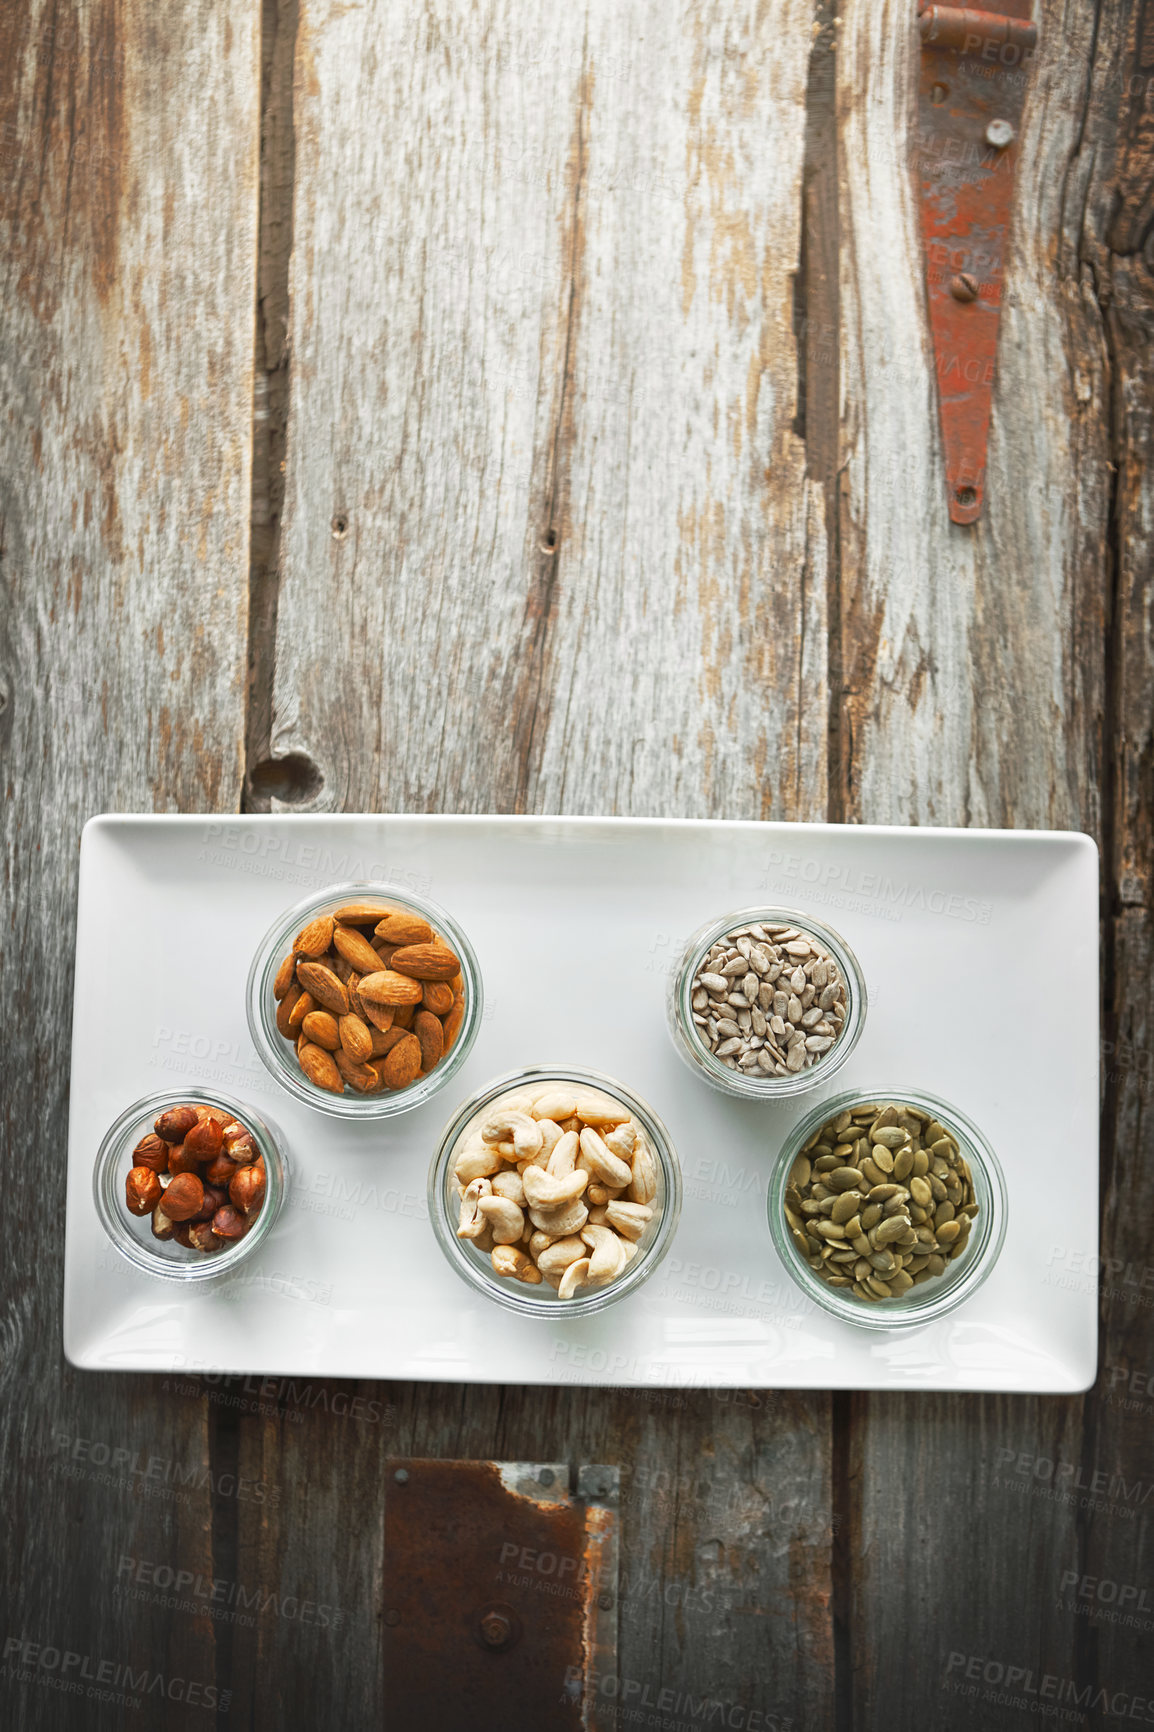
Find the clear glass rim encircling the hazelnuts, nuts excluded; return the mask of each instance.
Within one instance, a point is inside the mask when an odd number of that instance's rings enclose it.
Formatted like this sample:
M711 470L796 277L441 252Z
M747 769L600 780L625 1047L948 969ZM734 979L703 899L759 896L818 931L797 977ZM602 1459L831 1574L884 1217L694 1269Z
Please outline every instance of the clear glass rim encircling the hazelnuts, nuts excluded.
M222 1107L225 1112L230 1112L234 1119L244 1124L246 1129L251 1129L265 1160L265 1202L256 1218L256 1225L251 1226L250 1231L244 1233L244 1237L239 1238L229 1251L218 1251L211 1256L201 1254L199 1261L192 1259L184 1263L175 1257L161 1257L158 1252L149 1251L147 1242L135 1238L126 1225L126 1219L123 1219L120 1211L114 1207L111 1195L106 1195L106 1186L114 1195L113 1188L118 1178L114 1169L121 1155L130 1152L126 1143L133 1126L144 1122L146 1119L154 1121L165 1107L192 1103ZM126 1174L128 1169L120 1174L121 1181ZM288 1190L289 1160L277 1126L255 1107L248 1105L248 1102L236 1100L236 1096L225 1095L217 1088L156 1089L152 1095L142 1095L140 1100L125 1107L113 1124L109 1124L107 1131L100 1138L100 1145L92 1162L92 1200L95 1204L97 1219L109 1244L125 1259L125 1263L132 1264L132 1268L140 1270L144 1275L156 1275L161 1280L170 1282L206 1282L218 1280L222 1275L230 1275L237 1264L253 1256L253 1252L265 1242L281 1216ZM132 1219L146 1221L147 1216L132 1216Z

